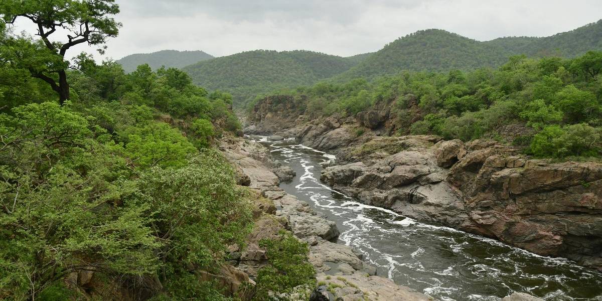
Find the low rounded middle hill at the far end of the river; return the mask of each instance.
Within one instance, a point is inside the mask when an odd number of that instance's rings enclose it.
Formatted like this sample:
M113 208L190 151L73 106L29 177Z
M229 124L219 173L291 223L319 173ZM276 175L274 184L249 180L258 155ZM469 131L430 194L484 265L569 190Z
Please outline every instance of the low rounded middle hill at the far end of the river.
M235 105L279 88L314 84L348 70L355 59L312 51L256 50L184 67L197 85L232 93Z

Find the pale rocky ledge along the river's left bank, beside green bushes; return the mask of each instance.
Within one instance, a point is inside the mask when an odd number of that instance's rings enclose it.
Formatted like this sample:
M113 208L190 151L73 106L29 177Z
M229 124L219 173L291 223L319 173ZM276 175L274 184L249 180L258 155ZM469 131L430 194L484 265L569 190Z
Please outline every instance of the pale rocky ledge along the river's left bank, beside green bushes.
M237 271L249 275L249 281L252 281L258 268L267 261L265 250L259 247L259 240L275 237L280 229L288 229L309 244L309 261L318 272L318 280L325 279L328 274L338 275L341 279L345 277L349 279L349 283L353 283L341 284L342 288L337 290L336 299L331 299L334 296L323 294L323 291L320 293L320 290L315 290L312 293L315 300L429 300L423 294L375 276L376 268L362 261L361 255L356 254L351 247L330 242L339 235L336 224L317 216L307 202L278 187L278 177L268 168L273 163L265 157L269 152L262 151L262 148L261 144L238 138L224 140L220 145L226 158L248 176L249 187L260 194L262 199L256 204L258 212L253 213L256 222L253 232L247 238L247 248L240 250L238 246L231 246L229 249L229 262L234 264ZM249 157L250 154L253 157ZM235 279L239 279L239 276L226 277L234 280L224 283L225 287L237 290ZM324 299L325 297L329 299Z

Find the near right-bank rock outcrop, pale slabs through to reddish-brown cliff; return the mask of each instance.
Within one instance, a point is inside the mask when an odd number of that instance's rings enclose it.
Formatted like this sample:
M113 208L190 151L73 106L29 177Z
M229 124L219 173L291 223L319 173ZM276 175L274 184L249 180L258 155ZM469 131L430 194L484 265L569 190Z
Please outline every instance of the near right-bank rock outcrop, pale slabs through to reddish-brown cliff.
M404 216L602 268L602 164L529 160L495 141L452 140L327 167L321 179Z

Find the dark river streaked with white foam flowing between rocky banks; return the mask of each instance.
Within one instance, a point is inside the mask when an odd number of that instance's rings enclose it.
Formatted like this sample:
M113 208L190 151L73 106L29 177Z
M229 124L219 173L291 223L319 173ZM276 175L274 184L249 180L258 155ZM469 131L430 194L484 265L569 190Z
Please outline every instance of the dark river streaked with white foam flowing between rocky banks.
M602 273L364 205L320 182L319 163L332 156L294 141L263 140L297 172L281 187L336 222L340 242L363 252L380 276L435 300L500 300L518 291L545 300L602 301Z

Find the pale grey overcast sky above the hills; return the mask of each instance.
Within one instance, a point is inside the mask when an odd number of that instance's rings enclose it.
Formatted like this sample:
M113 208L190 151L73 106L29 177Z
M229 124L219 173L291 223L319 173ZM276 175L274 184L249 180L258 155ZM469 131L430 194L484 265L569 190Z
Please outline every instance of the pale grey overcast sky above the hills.
M117 0L119 59L162 49L214 56L254 49L373 52L414 31L476 40L550 36L602 19L601 0Z

